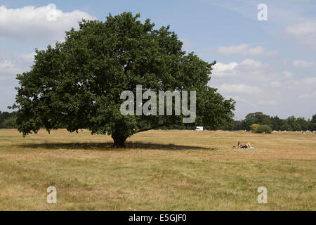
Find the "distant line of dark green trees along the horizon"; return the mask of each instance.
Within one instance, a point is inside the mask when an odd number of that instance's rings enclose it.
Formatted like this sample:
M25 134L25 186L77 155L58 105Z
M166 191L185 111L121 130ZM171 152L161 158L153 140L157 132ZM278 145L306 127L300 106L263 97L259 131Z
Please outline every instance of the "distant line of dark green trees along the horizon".
M17 113L8 113L0 111L0 129L16 128L16 117ZM315 131L316 130L316 114L312 116L312 120L305 120L304 117L288 117L287 119L280 119L279 117L271 117L261 112L249 113L246 115L244 120L231 122L225 124L223 127L216 127L216 129L225 130L251 130L251 125L260 124L267 125L272 130L277 131ZM203 126L203 124L197 124ZM196 129L196 124L176 124L165 127L159 127L157 129ZM204 126L204 129L214 129L211 127Z

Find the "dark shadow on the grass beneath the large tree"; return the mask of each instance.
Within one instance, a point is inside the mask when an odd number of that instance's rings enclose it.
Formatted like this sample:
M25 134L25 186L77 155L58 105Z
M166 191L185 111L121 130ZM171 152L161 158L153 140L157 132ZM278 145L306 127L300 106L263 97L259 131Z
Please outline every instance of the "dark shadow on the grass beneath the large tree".
M117 150L113 148L112 142L86 142L86 143L25 143L20 148L42 148L42 149L85 149L85 150ZM126 148L158 149L158 150L216 150L216 148L205 148L199 146L181 146L174 144L143 143L126 141Z

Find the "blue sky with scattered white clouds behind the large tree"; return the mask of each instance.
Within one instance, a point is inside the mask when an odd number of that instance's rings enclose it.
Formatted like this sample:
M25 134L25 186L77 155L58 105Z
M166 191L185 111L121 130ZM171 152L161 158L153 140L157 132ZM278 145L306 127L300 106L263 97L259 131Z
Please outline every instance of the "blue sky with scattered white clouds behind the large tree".
M55 21L46 18L48 4L57 7ZM258 4L267 5L267 21L257 19ZM216 60L209 85L237 101L236 119L316 113L315 0L0 1L0 110L14 103L15 75L29 70L35 48L62 40L81 18L124 11L171 25L185 51Z

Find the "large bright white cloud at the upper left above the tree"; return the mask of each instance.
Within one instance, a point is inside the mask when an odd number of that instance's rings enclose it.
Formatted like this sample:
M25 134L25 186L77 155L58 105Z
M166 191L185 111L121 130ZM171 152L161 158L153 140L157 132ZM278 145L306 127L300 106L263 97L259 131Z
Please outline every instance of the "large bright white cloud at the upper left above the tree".
M61 39L66 30L77 27L81 19L94 20L93 16L83 11L64 13L58 9L55 20L49 20L51 8L25 6L6 8L0 6L0 37L18 37L21 39L41 38Z

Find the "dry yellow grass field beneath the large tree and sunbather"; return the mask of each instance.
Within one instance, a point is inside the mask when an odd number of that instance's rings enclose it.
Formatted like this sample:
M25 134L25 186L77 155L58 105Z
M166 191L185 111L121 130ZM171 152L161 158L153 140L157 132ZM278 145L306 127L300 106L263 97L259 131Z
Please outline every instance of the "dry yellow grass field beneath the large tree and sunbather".
M126 145L89 131L0 130L0 210L316 210L316 134L146 131Z

